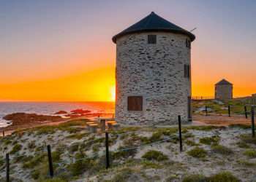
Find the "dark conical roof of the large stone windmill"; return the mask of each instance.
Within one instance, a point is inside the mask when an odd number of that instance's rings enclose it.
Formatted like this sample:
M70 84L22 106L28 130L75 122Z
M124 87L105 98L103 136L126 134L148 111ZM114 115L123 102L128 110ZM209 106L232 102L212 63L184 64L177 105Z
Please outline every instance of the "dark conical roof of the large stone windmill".
M148 31L165 31L165 32L172 32L172 33L181 33L185 34L190 37L191 41L195 40L195 35L186 31L185 29L170 23L169 21L165 20L159 15L151 12L150 15L144 17L138 23L131 25L129 28L121 31L116 36L113 36L112 40L116 43L116 39L121 36L127 35L129 33L138 33L138 32L148 32Z

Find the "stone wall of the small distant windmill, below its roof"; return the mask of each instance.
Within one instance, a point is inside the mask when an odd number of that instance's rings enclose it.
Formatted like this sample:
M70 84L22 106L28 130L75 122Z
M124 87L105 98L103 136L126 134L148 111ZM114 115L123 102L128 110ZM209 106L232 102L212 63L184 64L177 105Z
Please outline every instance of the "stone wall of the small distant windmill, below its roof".
M233 86L230 84L215 85L215 98L220 100L233 98Z

